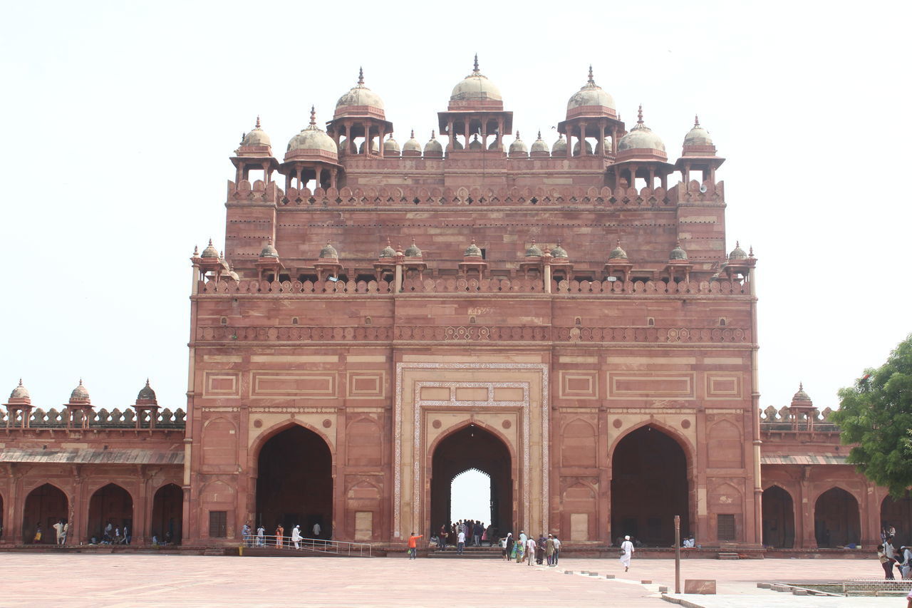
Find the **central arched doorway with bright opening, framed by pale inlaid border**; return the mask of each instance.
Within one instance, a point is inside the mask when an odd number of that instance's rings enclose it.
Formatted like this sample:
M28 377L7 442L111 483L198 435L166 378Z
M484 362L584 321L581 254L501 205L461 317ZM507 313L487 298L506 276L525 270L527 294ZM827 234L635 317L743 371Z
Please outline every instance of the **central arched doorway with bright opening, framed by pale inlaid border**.
M452 481L461 473L477 469L491 478L489 487L476 491L487 493L490 501L490 524L494 536L513 533L513 459L503 441L479 425L466 425L444 437L431 456L430 529L436 534L440 526L451 523ZM489 489L490 488L490 489ZM470 516L458 516L467 519ZM488 522L485 522L485 526Z

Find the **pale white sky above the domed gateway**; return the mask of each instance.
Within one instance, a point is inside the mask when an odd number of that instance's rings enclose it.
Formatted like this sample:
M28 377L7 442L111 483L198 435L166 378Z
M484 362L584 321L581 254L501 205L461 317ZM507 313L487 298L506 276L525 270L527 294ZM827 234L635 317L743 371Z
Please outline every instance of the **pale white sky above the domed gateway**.
M699 112L728 159L728 248L759 259L763 407L800 381L834 406L912 330L907 3L444 6L6 5L0 396L22 376L60 407L82 377L122 408L149 376L185 407L188 257L223 246L241 133L262 115L281 154L363 66L399 142L425 141L475 52L526 142L555 139L590 63L672 157Z

